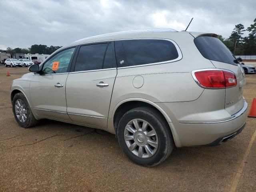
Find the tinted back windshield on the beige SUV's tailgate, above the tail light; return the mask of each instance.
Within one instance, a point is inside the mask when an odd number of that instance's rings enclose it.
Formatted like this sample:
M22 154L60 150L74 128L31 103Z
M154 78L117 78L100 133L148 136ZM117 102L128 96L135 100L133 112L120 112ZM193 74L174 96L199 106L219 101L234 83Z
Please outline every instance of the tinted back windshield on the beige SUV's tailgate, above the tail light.
M200 36L194 39L194 43L206 59L237 65L232 52L218 38Z

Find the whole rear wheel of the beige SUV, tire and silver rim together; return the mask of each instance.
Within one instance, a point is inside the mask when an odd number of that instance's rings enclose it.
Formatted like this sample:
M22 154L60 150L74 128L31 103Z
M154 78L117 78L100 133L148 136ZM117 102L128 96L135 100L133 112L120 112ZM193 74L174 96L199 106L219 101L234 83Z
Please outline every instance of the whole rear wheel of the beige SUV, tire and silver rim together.
M117 130L123 152L136 164L156 166L172 152L174 141L166 120L150 107L138 107L122 116Z

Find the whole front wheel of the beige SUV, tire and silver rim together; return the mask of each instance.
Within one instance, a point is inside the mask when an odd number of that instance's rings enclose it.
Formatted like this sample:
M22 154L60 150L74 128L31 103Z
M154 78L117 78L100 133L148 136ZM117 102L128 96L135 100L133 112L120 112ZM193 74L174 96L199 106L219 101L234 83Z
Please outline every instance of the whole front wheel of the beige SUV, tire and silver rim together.
M19 126L29 128L35 126L38 120L34 117L26 97L22 93L14 96L12 102L12 112Z

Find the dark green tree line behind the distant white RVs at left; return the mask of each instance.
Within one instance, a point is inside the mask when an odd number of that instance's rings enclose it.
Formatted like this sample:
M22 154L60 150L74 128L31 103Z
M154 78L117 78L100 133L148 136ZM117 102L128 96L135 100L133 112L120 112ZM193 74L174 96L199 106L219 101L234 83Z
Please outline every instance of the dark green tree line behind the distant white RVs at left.
M30 48L15 48L12 49L10 47L6 48L6 50L0 50L0 52L5 53L24 53L24 54L52 54L57 49L61 48L60 46L46 46L46 45L32 45Z

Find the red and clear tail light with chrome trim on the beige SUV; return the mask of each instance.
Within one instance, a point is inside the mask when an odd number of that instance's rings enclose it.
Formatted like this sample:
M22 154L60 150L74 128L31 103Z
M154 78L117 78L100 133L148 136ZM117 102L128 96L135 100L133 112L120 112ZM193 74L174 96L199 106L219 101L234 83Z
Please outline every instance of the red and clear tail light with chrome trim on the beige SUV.
M221 69L204 69L192 71L197 84L203 88L222 89L236 86L236 76L233 72Z

